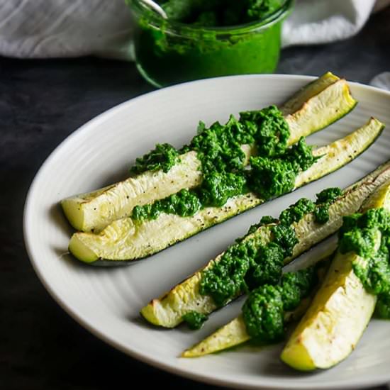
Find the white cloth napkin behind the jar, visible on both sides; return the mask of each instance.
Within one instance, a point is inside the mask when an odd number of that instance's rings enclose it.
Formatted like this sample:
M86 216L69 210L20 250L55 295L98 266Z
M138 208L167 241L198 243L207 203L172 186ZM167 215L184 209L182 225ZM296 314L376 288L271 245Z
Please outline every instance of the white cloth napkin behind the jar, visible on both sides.
M364 26L374 6L387 4L390 0L296 0L284 23L283 44L348 38ZM130 12L124 0L0 0L1 55L92 54L131 60L130 42Z

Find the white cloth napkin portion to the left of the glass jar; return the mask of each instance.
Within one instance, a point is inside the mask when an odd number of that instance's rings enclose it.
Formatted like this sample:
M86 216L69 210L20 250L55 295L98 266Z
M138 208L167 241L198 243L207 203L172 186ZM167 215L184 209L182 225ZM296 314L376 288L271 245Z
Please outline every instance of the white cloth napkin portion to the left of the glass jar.
M129 58L124 0L0 0L0 54Z

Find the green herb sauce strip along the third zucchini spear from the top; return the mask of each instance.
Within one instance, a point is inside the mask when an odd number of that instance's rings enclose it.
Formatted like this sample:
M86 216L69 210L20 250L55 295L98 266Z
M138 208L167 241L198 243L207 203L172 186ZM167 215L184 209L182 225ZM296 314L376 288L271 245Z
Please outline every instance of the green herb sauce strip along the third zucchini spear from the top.
M317 195L316 203L325 200L329 207L330 195L325 198L325 194L334 194L335 201L338 197L335 194L342 194L342 191L327 189ZM247 240L237 240L213 267L202 273L200 293L210 295L217 306L223 306L243 292L252 291L264 284L277 284L282 276L284 259L292 255L294 246L298 243L294 223L322 205L303 198L282 211L279 220L263 217L259 224L251 226L248 234L255 233L261 225L269 223L272 240L267 245L262 245L256 234Z

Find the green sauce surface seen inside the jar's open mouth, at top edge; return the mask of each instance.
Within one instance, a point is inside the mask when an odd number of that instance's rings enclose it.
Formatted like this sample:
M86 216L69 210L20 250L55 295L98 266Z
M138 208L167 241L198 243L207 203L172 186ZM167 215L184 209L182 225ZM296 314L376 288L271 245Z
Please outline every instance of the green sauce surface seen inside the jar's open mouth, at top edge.
M282 0L158 0L167 16L195 26L234 26L258 21L279 9Z

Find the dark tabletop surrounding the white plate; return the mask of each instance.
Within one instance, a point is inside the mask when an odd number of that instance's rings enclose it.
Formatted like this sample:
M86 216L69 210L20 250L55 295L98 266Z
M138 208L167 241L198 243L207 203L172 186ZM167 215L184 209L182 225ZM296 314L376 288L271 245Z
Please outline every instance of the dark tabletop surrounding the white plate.
M368 83L390 70L390 9L331 45L288 48L277 72L331 70ZM23 204L50 152L97 114L152 91L133 63L96 58L0 59L0 388L108 389L158 381L217 389L148 367L72 320L45 291L23 244Z

